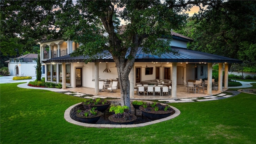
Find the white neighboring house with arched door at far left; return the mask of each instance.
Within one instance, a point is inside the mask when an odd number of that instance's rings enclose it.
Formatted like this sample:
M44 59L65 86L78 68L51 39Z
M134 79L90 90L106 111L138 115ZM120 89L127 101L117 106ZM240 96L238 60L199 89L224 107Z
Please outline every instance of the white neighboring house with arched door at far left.
M36 60L38 54L25 54L17 58L10 58L8 69L11 76L36 76Z

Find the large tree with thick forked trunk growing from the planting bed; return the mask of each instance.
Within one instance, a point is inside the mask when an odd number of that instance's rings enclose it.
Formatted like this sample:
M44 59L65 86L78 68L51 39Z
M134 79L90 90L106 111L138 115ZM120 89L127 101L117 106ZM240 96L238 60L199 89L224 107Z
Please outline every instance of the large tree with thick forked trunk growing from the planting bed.
M184 24L187 15L181 14L182 6L191 3L194 2L78 0L74 6L70 1L57 16L57 26L64 31L64 38L82 43L73 56L95 56L103 50L112 54L120 83L121 104L130 107L128 75L138 47L143 46L144 52L152 55L173 52L169 40L158 38L170 38L171 30ZM120 27L116 18L126 21L126 26ZM104 33L108 36L102 35Z

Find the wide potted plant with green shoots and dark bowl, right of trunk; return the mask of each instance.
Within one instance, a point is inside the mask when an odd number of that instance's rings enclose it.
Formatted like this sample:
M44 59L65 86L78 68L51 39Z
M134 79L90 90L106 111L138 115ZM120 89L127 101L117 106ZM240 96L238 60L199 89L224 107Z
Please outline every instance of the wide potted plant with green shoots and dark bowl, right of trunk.
M150 120L158 120L165 118L175 113L175 111L168 105L163 105L154 102L153 104L143 104L139 107L143 116Z

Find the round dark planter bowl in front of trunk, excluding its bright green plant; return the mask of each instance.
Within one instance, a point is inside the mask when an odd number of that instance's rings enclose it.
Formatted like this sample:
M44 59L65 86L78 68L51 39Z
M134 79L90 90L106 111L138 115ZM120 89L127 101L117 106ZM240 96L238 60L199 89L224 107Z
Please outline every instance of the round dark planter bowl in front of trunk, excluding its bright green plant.
M124 117L129 118L126 119ZM136 119L137 117L135 115L126 112L124 112L124 114L112 114L108 117L108 120L111 121L111 124L133 124Z

